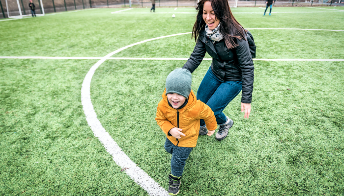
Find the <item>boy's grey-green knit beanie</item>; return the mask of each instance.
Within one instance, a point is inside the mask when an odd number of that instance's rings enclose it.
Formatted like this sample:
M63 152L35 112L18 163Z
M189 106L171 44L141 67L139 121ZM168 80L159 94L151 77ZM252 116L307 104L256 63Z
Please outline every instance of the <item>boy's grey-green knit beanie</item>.
M189 98L191 92L191 73L187 69L173 70L166 78L166 95L177 93Z

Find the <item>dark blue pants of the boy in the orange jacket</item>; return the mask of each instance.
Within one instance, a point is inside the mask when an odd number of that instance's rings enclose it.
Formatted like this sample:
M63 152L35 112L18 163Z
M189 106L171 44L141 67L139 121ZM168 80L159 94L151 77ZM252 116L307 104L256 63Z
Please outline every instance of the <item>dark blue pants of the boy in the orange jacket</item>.
M171 173L179 177L183 174L185 161L189 157L192 147L177 147L166 138L165 149L172 154L171 158Z

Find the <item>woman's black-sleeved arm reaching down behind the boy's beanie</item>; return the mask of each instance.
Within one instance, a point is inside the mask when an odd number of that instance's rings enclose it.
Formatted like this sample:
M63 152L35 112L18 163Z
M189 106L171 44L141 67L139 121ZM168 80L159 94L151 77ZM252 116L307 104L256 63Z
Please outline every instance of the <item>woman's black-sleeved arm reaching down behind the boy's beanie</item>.
M198 39L194 51L191 53L190 58L186 61L183 69L189 70L190 73L193 73L198 66L201 64L206 53L205 44Z

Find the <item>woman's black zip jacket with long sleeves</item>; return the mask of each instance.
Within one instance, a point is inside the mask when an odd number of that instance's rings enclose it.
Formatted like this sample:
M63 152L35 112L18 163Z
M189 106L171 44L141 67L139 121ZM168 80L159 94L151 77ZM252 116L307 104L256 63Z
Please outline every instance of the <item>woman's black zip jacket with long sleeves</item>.
M246 34L245 39L247 39ZM241 102L251 103L255 68L249 44L244 39L234 39L234 41L238 46L234 49L227 49L224 40L213 44L206 36L205 30L201 30L195 49L183 68L193 73L201 64L205 53L208 52L213 58L211 71L222 81L242 80Z

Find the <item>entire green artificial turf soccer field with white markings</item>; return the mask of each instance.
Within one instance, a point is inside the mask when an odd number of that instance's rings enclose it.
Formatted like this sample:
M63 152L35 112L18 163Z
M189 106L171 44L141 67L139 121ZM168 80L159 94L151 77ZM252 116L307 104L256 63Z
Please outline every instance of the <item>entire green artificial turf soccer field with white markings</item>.
M257 45L250 119L239 94L229 136L199 137L180 196L344 194L344 7L264 9L231 9ZM172 155L154 118L195 20L159 7L0 20L0 195L161 193L146 176L167 190Z

